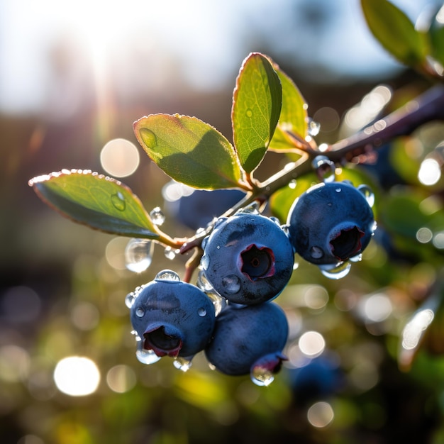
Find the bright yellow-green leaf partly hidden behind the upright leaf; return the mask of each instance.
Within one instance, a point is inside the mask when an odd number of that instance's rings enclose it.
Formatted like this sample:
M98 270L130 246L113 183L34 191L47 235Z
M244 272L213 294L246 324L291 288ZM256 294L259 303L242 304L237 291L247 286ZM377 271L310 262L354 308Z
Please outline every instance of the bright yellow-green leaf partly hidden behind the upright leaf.
M273 67L282 84L282 111L269 148L275 151L294 149L294 143L287 131L301 139L306 138L307 104L293 80L278 65L274 64Z

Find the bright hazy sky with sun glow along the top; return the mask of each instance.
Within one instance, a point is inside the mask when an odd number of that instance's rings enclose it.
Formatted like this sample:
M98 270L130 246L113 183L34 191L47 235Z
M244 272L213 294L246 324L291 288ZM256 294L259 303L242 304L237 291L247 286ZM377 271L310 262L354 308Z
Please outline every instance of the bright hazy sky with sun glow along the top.
M424 2L396 0L413 16ZM298 34L304 4L333 18L328 38ZM0 112L41 111L51 96L75 102L84 79L101 84L106 73L129 97L167 88L177 72L193 87L227 87L258 41L341 75L399 67L370 37L359 0L1 0Z

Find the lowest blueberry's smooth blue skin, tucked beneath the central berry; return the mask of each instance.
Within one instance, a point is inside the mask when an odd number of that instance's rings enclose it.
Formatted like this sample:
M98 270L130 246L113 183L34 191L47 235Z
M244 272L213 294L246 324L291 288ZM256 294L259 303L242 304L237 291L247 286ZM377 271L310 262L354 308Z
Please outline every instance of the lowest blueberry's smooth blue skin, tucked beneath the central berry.
M287 336L287 318L274 302L228 305L216 318L205 355L217 370L231 375L248 374L262 358L274 355L274 365L269 370L277 372L284 359L282 349Z

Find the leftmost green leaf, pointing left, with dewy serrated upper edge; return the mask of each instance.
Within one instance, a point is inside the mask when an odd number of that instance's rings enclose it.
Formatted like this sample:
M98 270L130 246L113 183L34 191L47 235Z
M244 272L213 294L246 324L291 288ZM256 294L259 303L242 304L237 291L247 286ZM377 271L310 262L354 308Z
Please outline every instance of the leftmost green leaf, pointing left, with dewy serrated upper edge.
M138 196L116 179L89 170L62 170L29 181L62 216L106 233L160 238Z

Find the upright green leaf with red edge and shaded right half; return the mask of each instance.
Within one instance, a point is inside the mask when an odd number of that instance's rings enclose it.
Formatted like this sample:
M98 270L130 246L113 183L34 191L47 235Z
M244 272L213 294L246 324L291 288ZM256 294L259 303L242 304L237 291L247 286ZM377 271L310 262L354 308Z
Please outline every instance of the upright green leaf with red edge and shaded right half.
M250 173L272 140L282 107L282 87L270 60L252 52L243 62L233 92L233 140L240 164Z

